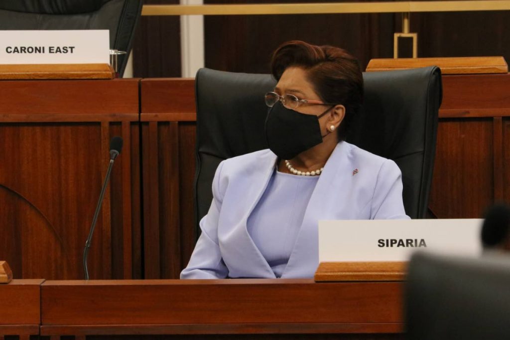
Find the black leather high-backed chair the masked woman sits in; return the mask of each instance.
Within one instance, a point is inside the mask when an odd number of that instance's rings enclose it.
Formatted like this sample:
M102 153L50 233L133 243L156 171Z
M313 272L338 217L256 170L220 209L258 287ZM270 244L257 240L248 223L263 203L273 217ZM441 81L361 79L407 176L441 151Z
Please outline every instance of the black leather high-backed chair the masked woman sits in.
M347 141L394 160L402 171L405 212L424 218L436 152L442 99L437 67L364 73L365 100ZM269 74L200 69L196 75L197 167L195 218L207 214L218 164L267 148L264 94Z

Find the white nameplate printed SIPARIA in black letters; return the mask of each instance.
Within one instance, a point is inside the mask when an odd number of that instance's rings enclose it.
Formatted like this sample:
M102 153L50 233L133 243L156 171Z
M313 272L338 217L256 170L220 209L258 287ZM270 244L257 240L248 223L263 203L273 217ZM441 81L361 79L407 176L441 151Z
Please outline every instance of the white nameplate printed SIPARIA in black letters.
M319 261L407 261L416 250L479 255L482 219L319 221Z

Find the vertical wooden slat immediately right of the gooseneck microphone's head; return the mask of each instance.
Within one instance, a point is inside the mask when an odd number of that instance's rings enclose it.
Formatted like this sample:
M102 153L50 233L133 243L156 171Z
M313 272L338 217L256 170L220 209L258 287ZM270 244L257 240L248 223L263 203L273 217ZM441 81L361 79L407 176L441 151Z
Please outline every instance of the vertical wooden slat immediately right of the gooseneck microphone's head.
M122 122L122 138L124 152L122 153L122 239L123 239L123 278L133 277L132 251L132 220L131 220L131 122Z

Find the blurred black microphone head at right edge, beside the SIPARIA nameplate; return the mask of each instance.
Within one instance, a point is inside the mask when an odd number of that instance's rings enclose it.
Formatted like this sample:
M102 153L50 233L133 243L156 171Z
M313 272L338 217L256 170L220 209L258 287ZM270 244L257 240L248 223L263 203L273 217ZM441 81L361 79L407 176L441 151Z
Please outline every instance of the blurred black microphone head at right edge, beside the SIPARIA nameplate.
M510 207L506 204L495 204L485 215L481 228L481 242L486 248L504 246L510 229Z

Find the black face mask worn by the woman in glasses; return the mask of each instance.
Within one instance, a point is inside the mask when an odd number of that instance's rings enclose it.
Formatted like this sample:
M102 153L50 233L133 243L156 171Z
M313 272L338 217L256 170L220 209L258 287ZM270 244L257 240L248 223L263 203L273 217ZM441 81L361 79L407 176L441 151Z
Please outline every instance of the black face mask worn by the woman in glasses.
M291 160L299 153L322 143L319 116L287 109L277 102L269 108L266 117L266 141L271 151L283 160Z

